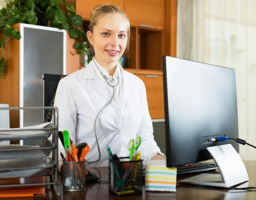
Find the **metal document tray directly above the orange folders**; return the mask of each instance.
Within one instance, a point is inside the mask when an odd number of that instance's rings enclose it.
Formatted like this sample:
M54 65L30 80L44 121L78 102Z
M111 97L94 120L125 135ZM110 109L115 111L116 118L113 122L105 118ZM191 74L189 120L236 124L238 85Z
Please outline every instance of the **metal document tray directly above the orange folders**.
M51 158L0 161L0 178L47 176L55 163Z

